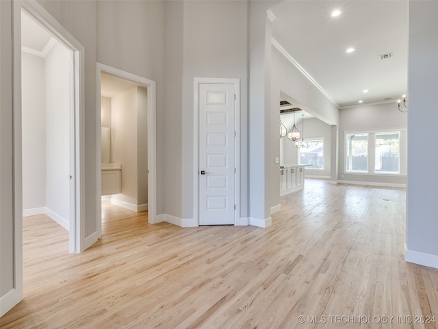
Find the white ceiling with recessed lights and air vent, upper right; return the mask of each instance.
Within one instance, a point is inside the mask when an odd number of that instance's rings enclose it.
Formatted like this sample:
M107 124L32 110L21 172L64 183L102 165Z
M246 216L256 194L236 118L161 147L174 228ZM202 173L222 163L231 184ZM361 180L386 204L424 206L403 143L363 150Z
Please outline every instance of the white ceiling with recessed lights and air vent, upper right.
M407 1L283 1L271 11L272 37L339 108L407 94Z

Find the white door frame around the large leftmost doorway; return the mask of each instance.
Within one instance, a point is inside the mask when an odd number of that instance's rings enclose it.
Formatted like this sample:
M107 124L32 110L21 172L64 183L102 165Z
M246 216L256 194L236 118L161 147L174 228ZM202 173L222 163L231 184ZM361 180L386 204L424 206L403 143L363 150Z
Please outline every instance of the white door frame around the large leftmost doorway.
M70 254L85 249L84 185L83 177L84 144L84 47L60 23L58 23L42 5L36 1L14 1L14 219L16 228L23 227L23 181L22 181L22 130L21 130L21 11L26 12L49 34L70 51L70 218L69 243ZM19 54L19 55L18 55ZM20 243L23 239L20 238ZM18 243L18 239L16 239ZM21 251L22 253L22 251ZM21 256L22 257L22 256Z

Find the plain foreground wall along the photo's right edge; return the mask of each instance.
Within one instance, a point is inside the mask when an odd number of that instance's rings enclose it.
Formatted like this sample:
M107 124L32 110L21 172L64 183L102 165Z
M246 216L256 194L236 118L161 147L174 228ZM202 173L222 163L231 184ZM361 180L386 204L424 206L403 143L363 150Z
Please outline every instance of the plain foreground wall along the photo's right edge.
M406 259L438 268L438 2L409 1L409 166Z

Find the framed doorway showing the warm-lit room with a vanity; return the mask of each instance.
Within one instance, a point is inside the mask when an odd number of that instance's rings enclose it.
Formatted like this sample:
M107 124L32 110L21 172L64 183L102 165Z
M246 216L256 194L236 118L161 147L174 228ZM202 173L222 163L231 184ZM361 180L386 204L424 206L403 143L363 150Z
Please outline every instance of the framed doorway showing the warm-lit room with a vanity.
M97 75L96 208L110 203L148 210L148 222L155 223L155 82L104 64ZM101 237L102 212L98 218Z

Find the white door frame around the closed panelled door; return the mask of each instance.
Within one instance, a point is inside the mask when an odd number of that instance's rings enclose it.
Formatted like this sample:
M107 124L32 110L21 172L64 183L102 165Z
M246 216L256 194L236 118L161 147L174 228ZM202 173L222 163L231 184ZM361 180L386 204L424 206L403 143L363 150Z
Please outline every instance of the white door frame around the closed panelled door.
M194 111L193 111L193 216L199 226L199 85L200 84L233 84L234 102L234 225L242 225L240 221L240 79L220 77L194 77ZM244 223L244 225L248 225Z

